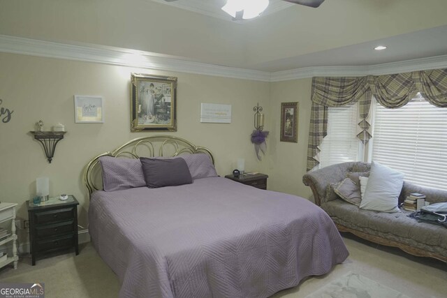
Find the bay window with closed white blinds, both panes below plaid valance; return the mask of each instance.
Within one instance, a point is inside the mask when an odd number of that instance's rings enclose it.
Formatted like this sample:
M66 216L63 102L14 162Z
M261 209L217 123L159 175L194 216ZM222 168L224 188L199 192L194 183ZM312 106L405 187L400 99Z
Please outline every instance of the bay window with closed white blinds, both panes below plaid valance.
M431 105L420 94L397 109L374 101L369 146L356 137L357 104L328 109L320 167L374 160L403 172L406 181L447 190L447 108Z

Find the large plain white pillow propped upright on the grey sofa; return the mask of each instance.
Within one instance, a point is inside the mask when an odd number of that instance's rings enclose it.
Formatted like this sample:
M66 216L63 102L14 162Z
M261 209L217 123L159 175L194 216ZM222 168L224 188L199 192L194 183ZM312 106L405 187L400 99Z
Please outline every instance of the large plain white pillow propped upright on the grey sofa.
M360 208L388 213L399 212L397 204L403 184L404 174L373 161Z

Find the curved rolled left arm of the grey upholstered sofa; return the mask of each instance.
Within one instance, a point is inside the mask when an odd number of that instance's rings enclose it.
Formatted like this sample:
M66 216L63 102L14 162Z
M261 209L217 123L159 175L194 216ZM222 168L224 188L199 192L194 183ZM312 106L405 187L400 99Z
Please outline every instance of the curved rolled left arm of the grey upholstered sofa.
M349 162L330 165L319 170L307 172L302 177L305 186L309 186L314 194L315 204L320 206L325 202L326 188L329 184L337 183L346 178L348 172L359 172L367 167L367 163Z

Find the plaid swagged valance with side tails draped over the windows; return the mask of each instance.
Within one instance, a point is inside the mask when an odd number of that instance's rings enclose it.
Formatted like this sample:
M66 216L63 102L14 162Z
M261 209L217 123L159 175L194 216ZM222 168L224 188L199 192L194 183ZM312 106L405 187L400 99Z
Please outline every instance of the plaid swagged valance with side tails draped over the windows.
M359 102L357 137L366 144L372 137L367 121L372 96L384 107L397 108L406 105L418 92L432 105L447 107L447 68L366 77L314 77L307 170L319 164L318 147L328 133L328 107Z

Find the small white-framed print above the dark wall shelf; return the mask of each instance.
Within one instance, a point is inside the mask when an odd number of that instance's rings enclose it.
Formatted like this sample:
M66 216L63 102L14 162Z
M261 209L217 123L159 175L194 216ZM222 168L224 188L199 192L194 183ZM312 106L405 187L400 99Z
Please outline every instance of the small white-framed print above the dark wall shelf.
M104 123L103 97L75 95L75 123Z

